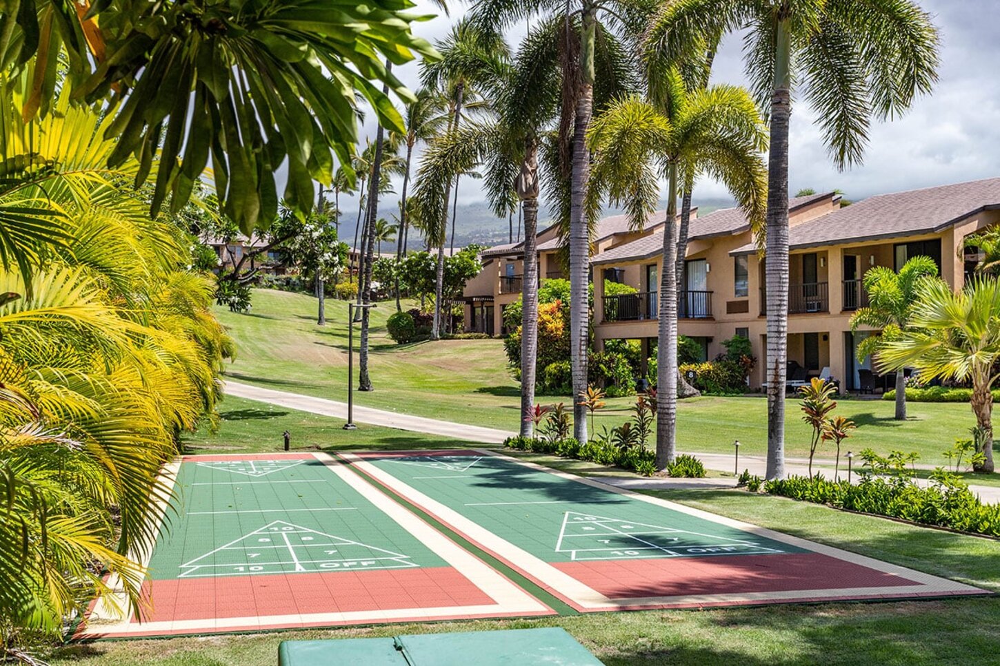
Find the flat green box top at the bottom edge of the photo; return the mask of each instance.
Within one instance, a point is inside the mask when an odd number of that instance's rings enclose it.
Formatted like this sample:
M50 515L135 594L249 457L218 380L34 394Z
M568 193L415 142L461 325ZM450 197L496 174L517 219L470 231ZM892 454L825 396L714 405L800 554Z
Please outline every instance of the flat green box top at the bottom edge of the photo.
M562 629L282 641L278 666L602 666Z

